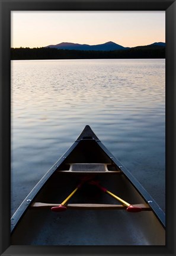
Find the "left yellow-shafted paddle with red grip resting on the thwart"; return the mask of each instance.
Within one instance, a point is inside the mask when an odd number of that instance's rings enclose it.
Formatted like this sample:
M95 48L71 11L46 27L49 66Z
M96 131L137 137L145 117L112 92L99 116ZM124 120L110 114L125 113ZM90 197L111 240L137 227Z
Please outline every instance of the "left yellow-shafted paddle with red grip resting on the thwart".
M71 199L73 194L75 194L76 191L79 188L81 188L82 184L84 184L86 181L90 180L91 178L92 178L92 176L91 177L82 177L81 183L79 183L79 185L75 188L75 190L73 190L72 193L69 194L69 196L66 197L66 199L61 204L59 204L59 206L54 206L54 207L51 208L52 212L63 212L63 211L65 211L67 209L65 204L68 202L68 200Z

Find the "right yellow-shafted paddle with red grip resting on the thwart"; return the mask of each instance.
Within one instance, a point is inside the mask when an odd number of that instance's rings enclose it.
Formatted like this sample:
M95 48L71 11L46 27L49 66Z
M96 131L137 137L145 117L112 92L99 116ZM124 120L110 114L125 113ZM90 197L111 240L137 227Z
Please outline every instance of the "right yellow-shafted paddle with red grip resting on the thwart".
M123 199L121 199L120 197L116 196L115 194L111 193L110 191L107 190L107 188L102 187L98 181L90 181L89 182L92 185L96 185L98 188L100 188L104 193L110 194L110 196L114 197L115 199L117 199L118 201L120 201L122 204L124 204L124 206L127 206L127 212L141 212L142 208L140 207L136 207L133 206L132 204L127 203L126 201L124 201Z

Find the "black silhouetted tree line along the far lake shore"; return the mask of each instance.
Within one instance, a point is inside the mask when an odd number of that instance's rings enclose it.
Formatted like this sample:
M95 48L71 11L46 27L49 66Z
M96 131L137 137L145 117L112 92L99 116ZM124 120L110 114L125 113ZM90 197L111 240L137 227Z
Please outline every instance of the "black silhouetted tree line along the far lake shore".
M56 48L11 48L11 60L32 59L164 59L165 47L138 46L127 50L85 51Z

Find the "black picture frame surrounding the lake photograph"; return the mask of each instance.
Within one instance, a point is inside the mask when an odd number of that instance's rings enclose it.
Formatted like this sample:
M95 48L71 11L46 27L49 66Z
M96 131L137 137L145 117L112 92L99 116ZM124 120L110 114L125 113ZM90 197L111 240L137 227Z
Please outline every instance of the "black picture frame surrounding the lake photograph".
M0 0L1 5L1 255L175 255L176 2L171 0ZM166 12L166 187L165 246L11 246L11 11Z

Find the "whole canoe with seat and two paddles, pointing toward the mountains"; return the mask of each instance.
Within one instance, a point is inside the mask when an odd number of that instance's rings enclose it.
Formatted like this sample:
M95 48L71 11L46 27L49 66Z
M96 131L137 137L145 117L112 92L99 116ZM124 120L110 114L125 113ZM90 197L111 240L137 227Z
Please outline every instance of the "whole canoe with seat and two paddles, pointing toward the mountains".
M11 245L165 245L165 213L85 126L11 217Z

